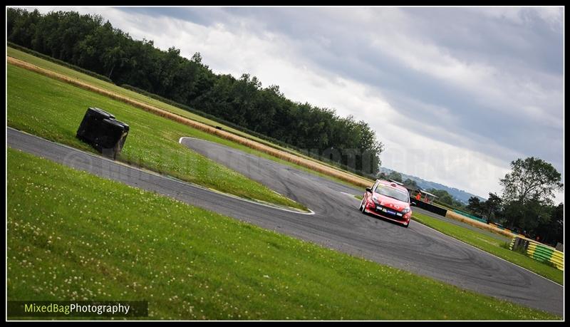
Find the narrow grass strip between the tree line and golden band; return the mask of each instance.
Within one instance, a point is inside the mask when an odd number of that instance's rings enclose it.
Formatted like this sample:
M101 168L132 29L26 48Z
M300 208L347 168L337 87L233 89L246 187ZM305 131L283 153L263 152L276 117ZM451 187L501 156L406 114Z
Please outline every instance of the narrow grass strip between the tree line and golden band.
M234 129L234 128L230 128L230 127L227 126L227 125L224 125L224 124L221 124L221 123L217 123L217 122L215 122L214 120L210 120L210 119L208 119L208 118L204 118L204 117L202 117L202 116L200 116L200 115L197 115L197 114L195 114L195 113L191 113L191 112L189 112L189 111L187 111L187 110L183 110L182 108L177 108L176 106L170 105L170 104L168 104L168 103L163 103L163 102L161 102L160 100L156 100L156 99L154 99L154 98L150 98L150 97L148 97L148 96L146 96L146 95L142 95L142 94L137 93L137 92L134 92L134 91L132 91L132 90L128 90L128 89L126 89L126 88L121 88L120 86L115 85L115 84L113 84L113 83L108 83L108 82L102 81L102 80L100 80L100 79L98 79L98 78L95 78L95 77L93 77L93 76L88 76L87 74L81 73L80 71L75 71L75 70L73 70L73 69L71 69L71 68L68 68L68 67L65 67L65 66L61 66L61 65L59 65L58 63L53 63L53 62L51 62L51 61L46 61L46 60L44 60L44 59L42 59L42 58L38 58L38 57L33 56L33 55L29 54L29 53L25 53L25 52L23 52L23 51L19 51L19 50L16 50L16 49L14 49L14 48L10 48L10 47L7 48L7 53L8 53L8 56L11 56L11 57L13 57L13 58L20 59L20 60L22 60L22 61L26 61L26 62L28 62L28 63L32 63L33 65L36 65L36 66L41 67L41 68L44 68L44 69L48 69L49 71L53 71L53 72L56 72L56 73L61 73L61 74L66 75L66 76L70 76L70 77L72 77L72 78L76 78L76 79L79 80L79 81L83 81L83 82L89 83L89 84L91 84L91 85L95 85L95 86L97 86L98 88L102 88L102 89L104 89L104 90L109 90L109 91L111 91L111 92L113 92L113 93L117 93L117 94L120 94L120 95L124 95L125 97L138 100L138 101L140 101L140 102L142 102L142 103L147 103L148 105L154 105L154 106L157 107L157 108L161 108L161 109L163 109L163 110L167 110L167 111L169 111L170 113L175 113L175 114L180 115L180 116L182 116L182 117L189 118L189 119L191 119L191 120L195 120L195 121L197 121L197 122L199 122L199 123L204 123L204 124L207 124L207 125L210 125L210 126L220 126L220 127L224 128L224 130L226 130L226 131L228 131L228 132L230 132L230 133L234 133L235 135L239 135L239 136L242 136L242 137L247 137L249 140L254 140L254 141L259 142L259 143L261 143L261 144L263 144L263 145L268 145L268 146L270 146L270 147L274 147L274 148L276 148L276 149L278 149L278 150L282 150L282 151L284 151L284 152L291 153L291 154L293 154L293 155L299 156L299 157L304 158L304 159L306 159L306 160L311 160L311 161L313 161L313 162L318 162L318 163L321 164L321 165L326 165L326 166L328 166L328 167L333 168L334 170L339 170L339 171L341 171L341 172L345 172L345 173L348 174L348 175L353 175L353 176L358 177L358 178L363 178L363 177L361 177L361 176L358 176L358 175L356 175L356 174L353 174L352 172L348 172L348 171L346 171L346 170L343 170L343 169L341 169L340 167L337 167L336 165L331 165L331 164L329 164L329 163L327 163L327 162L318 161L318 160L316 160L316 159L314 159L314 158L312 158L312 157L309 157L309 156L304 155L304 154L302 154L302 153L300 153L300 152L297 152L296 150L292 150L292 149L289 149L289 148L287 148L287 147L281 147L280 145L275 145L275 144L273 144L273 143L271 143L271 142L268 142L268 141L266 141L266 140L263 140L263 139L261 139L261 138L259 138L259 137L255 137L255 136L253 136L253 135L249 135L249 134L247 134L247 133L244 133L244 132L242 132L242 131L240 131L240 130L236 130L236 129ZM257 151L257 152L259 152L259 151ZM263 152L259 152L259 153L263 153ZM269 157L270 157L271 159L276 159L276 158L273 157L273 156L269 156ZM285 160L282 160L282 161L288 162L288 161L285 161ZM289 163L289 162L288 162L288 163ZM306 168L304 168L304 170L310 171L310 172L314 172L314 170L308 170L308 169L306 169ZM321 176L329 177L328 175L323 175L323 174L318 173L318 172L316 172L316 173L317 173L318 175L321 175ZM333 178L333 177L329 177L329 178ZM337 180L337 179L335 179L335 180ZM337 181L341 181L341 180L337 180ZM344 181L342 181L342 182L343 182L343 184L351 185L351 184L349 184L348 182L344 182Z

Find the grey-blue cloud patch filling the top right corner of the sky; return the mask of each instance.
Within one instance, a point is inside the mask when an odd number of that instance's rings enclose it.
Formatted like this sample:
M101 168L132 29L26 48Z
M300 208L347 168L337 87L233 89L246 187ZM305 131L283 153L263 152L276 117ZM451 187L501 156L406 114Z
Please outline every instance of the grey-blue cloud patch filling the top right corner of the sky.
M559 74L562 29L551 28L533 9L520 11L524 24L482 16L472 9L403 9L414 30L467 61L509 65L514 60Z

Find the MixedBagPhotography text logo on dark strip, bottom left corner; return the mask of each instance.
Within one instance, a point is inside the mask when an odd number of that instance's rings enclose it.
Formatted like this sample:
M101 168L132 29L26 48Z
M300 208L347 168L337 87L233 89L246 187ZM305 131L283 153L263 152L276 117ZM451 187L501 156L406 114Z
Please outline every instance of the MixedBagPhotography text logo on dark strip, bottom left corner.
M9 317L145 317L147 301L8 301Z

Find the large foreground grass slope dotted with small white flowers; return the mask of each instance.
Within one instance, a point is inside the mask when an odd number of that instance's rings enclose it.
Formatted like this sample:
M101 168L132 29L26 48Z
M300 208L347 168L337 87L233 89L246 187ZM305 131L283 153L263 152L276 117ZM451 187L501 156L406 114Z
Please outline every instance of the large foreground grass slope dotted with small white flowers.
M7 155L9 300L145 299L150 319L561 319Z

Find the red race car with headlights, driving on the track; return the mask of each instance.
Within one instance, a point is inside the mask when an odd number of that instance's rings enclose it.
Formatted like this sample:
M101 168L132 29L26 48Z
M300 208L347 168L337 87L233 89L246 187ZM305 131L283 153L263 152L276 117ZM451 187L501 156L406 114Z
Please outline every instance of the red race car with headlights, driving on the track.
M360 209L365 214L389 219L403 224L404 227L410 225L412 217L408 190L386 180L376 180L373 187L366 187Z

